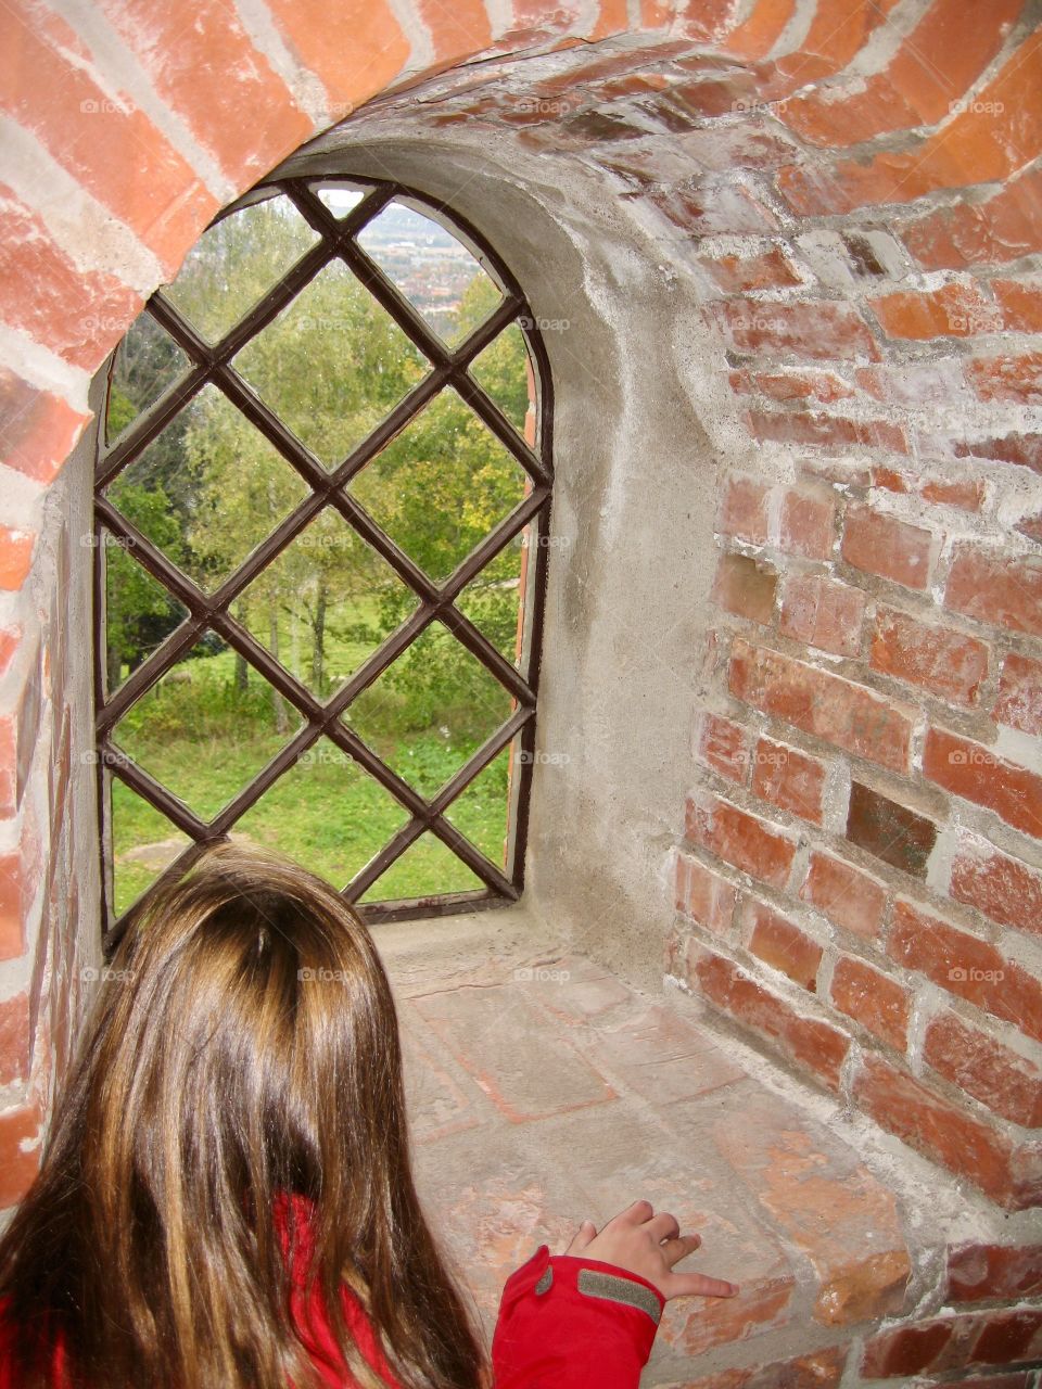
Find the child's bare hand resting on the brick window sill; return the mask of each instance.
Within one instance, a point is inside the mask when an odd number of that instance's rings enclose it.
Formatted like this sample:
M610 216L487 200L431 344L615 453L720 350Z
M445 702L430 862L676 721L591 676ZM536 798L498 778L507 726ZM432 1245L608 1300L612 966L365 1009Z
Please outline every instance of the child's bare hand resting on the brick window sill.
M686 1258L702 1243L699 1235L681 1235L672 1215L654 1214L650 1201L634 1201L614 1215L597 1233L592 1220L585 1220L565 1254L599 1258L654 1283L668 1301L671 1297L734 1297L736 1283L704 1274L674 1274L672 1265Z

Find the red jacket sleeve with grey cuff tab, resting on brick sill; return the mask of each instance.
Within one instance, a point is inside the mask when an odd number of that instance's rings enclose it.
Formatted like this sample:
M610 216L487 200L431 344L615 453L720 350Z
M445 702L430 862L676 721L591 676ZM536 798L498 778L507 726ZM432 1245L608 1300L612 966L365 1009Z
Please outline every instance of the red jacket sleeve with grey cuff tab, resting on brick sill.
M638 1389L664 1306L639 1274L540 1245L503 1289L495 1389Z

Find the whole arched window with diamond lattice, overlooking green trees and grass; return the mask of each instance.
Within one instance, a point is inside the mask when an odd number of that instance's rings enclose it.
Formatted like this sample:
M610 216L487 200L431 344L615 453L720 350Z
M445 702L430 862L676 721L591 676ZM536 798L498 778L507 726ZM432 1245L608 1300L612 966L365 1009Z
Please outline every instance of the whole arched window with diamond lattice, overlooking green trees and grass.
M210 226L108 369L110 942L226 836L370 921L517 900L550 483L538 329L458 217L290 179Z

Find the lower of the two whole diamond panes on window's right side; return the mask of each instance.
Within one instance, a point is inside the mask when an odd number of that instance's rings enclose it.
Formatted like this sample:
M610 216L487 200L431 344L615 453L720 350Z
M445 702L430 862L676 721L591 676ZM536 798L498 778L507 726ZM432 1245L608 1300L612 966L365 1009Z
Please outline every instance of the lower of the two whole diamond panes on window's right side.
M507 718L511 696L446 626L432 622L345 721L428 800Z

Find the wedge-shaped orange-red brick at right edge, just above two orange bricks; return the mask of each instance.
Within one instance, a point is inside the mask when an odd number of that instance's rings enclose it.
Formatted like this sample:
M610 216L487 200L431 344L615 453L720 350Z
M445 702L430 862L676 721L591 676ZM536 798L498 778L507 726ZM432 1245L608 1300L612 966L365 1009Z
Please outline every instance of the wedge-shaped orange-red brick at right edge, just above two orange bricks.
M1042 169L1035 169L985 201L929 213L904 229L903 240L924 269L1007 264L1042 250L1039 203Z

